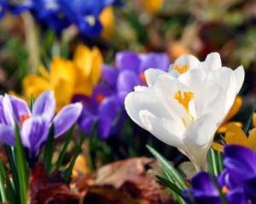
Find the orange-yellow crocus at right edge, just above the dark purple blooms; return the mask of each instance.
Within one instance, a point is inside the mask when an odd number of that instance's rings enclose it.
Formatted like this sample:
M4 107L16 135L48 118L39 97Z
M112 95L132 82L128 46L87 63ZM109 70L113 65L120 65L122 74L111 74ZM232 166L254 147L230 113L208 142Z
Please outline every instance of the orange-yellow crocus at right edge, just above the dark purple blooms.
M247 137L241 127L237 126L236 123L229 123L227 125L224 140L226 144L238 144L245 146L250 150L256 150L256 126L249 131L249 135ZM212 148L214 150L223 151L224 145L213 142Z

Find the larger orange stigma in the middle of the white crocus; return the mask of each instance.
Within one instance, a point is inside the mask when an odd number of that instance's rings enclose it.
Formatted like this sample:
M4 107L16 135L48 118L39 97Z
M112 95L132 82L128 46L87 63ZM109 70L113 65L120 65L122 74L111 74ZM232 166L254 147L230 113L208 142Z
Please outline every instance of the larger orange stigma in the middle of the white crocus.
M193 122L194 117L190 114L189 111L189 102L194 99L194 94L192 92L186 92L186 91L181 91L178 90L177 93L174 95L174 99L177 99L177 102L183 106L185 111L187 112L189 116L189 121L186 121L183 118L183 124L185 127L188 127L188 122Z

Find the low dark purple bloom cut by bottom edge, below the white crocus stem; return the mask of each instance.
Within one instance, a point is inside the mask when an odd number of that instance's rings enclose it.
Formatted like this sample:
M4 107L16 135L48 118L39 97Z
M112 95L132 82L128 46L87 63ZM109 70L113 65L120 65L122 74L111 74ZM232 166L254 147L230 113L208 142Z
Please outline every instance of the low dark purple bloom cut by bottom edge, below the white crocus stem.
M216 184L222 190L226 200L232 204L247 204L246 196L242 190L228 190L226 186L222 186L218 181L218 178L211 176L206 172L197 173L195 177L191 179L191 188L183 191L183 197L188 203L197 204L222 204L218 188L213 183L215 179ZM195 201L191 199L191 196Z

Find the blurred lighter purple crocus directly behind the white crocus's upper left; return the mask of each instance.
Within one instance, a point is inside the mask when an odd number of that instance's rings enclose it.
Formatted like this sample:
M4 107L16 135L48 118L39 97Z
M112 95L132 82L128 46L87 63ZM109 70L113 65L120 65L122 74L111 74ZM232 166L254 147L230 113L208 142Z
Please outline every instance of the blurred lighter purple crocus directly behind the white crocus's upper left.
M115 65L119 70L117 91L124 101L125 96L137 85L145 85L144 71L148 68L157 68L167 71L169 58L166 54L137 54L132 51L119 52L116 55Z

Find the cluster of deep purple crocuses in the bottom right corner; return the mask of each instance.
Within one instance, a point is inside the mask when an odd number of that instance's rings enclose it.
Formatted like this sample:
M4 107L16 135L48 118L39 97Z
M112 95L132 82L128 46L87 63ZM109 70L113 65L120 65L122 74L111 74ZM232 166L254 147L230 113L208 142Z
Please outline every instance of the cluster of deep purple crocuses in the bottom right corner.
M189 203L256 203L256 152L240 145L224 148L224 171L218 177L201 172L183 191ZM221 199L223 195L226 202Z

